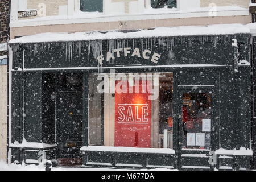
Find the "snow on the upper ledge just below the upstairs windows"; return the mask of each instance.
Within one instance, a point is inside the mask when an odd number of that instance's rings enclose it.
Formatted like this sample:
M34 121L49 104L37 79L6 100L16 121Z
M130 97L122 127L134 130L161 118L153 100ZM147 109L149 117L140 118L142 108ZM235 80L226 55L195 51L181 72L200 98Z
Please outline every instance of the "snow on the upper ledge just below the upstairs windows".
M152 20L152 19L177 19L177 18L197 18L210 17L209 12L212 9L208 7L198 9L147 9L144 13L138 14L103 14L77 12L73 16L48 16L42 18L16 20L10 23L10 27L43 26L53 24L75 24L75 23L99 23L99 22L118 22L134 20ZM248 16L249 9L237 6L217 7L216 16Z

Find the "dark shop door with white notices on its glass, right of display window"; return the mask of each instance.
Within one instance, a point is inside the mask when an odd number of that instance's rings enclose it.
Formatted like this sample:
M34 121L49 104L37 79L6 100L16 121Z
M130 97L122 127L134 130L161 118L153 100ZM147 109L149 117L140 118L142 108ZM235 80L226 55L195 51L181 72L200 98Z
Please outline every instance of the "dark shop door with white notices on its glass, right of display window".
M179 89L179 167L210 167L207 156L218 145L214 88Z

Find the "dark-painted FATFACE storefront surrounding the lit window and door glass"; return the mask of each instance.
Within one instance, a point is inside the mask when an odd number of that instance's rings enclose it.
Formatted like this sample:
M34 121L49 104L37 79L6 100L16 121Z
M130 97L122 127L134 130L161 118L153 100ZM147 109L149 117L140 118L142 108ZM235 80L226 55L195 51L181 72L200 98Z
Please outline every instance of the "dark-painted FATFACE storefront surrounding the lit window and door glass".
M238 46L232 44L233 39L237 40ZM65 159L72 158L73 164L82 164L82 167L250 169L249 34L16 43L9 46L12 49L9 76L9 154L12 163L39 164L46 159L60 164L58 159L65 163ZM125 56L126 47L130 49L126 49ZM139 53L133 52L136 48ZM108 61L107 52L113 49L119 49L120 55L113 54L115 58ZM144 50L150 51L143 55ZM154 57L154 53L160 56ZM102 119L106 114L105 101L103 96L96 96L90 90L90 84L93 84L90 76L108 75L113 69L115 74L171 73L172 146L167 147L170 150L161 150L163 146L158 142L159 150L155 152L154 147L148 151L134 149L133 152L130 148L125 151L104 146L108 131ZM69 76L80 78L75 81L75 86L63 84L63 79ZM95 129L100 132L100 142L95 145L102 147L97 150L87 147L93 146L90 144L93 138L90 131L94 131L90 127L93 112L89 103L93 97L101 100L97 107L101 125ZM210 121L210 129L201 132L210 140L207 147L206 140L204 148L188 143L187 137L195 138L197 131L189 133L189 127L186 127L184 134L185 97L205 97L205 103L210 102L210 105L206 104L208 107L205 106L210 109L210 117L208 115L208 120L204 120ZM61 105L69 101L72 106ZM76 107L78 114L66 109L69 107ZM69 121L65 118L71 122L65 122ZM164 135L160 130L159 136ZM68 135L72 131L75 131L73 138Z

